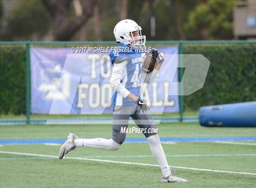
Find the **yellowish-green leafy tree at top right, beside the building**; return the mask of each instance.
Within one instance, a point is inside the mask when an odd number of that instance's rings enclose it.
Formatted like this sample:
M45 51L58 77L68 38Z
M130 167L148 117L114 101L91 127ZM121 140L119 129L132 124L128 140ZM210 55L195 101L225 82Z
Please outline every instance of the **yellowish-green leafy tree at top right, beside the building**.
M188 39L232 39L234 0L208 0L188 15Z

